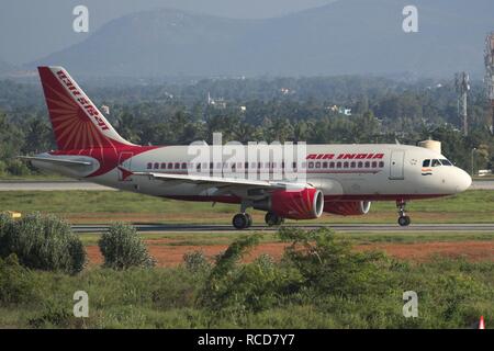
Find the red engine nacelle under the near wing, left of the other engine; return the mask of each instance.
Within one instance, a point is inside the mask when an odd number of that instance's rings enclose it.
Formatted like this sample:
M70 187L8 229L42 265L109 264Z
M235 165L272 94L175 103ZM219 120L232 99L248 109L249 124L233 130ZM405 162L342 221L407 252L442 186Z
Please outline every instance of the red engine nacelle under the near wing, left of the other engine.
M291 219L318 218L324 210L324 195L314 188L297 191L277 190L267 200L254 203L254 208L270 211Z

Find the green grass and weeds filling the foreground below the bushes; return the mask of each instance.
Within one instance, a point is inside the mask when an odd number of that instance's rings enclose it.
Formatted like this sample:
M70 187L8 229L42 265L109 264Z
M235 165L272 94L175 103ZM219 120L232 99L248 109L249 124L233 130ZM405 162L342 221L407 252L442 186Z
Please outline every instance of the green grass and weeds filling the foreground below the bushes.
M493 263L439 260L396 265L386 293L318 298L292 296L257 313L198 305L203 278L183 268L75 276L31 271L15 302L0 306L0 328L469 328L484 315L494 325ZM89 318L75 318L72 295L89 294ZM418 318L402 315L404 291L418 293Z

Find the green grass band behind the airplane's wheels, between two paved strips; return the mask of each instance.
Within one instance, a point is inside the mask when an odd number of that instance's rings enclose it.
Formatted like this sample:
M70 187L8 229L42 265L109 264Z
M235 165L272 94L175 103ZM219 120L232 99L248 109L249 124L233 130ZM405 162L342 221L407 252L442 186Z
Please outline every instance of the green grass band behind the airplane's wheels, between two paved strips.
M229 224L238 205L165 200L143 194L109 191L12 191L0 192L3 211L55 213L71 222L130 222ZM413 201L407 205L413 223L493 223L494 191L471 190L462 194ZM256 223L263 213L251 211ZM374 202L366 216L325 214L317 220L300 223L395 223L393 202ZM294 223L294 222L290 222Z

